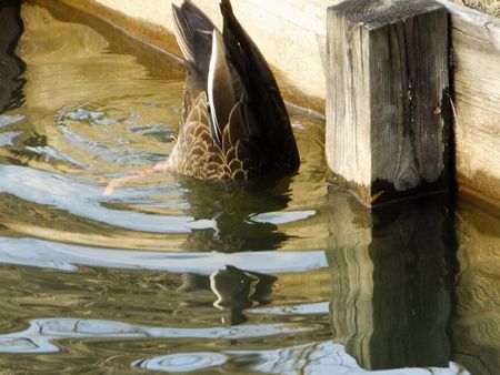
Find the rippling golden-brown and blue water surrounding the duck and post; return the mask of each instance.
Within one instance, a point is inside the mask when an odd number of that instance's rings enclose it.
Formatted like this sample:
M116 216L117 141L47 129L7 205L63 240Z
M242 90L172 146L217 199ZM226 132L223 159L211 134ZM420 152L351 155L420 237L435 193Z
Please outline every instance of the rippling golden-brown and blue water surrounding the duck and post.
M500 215L370 214L324 182L323 120L266 188L157 173L183 72L51 2L0 4L1 374L497 374ZM409 368L411 367L411 368ZM392 368L392 369L389 369Z

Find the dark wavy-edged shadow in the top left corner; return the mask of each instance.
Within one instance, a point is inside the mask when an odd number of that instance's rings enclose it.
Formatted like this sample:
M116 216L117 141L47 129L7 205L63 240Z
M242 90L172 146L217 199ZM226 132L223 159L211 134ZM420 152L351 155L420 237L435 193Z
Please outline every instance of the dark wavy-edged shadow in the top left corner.
M14 53L23 31L20 7L20 0L0 2L0 113L18 108L24 99L21 74L26 63Z

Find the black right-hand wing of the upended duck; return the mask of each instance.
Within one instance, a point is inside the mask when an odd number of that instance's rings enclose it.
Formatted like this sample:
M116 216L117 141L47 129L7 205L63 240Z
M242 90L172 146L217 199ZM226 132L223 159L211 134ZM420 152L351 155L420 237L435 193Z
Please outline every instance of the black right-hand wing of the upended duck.
M229 0L221 0L223 41L229 63L237 71L242 90L242 119L232 128L244 126L247 149L260 153L260 174L289 173L300 164L299 152L284 102L259 48L234 17ZM231 133L236 133L231 129Z

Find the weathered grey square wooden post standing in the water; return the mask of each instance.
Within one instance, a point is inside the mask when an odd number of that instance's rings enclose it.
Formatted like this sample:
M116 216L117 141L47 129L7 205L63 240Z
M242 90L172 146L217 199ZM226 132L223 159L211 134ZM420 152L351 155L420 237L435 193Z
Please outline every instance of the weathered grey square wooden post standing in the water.
M431 0L328 9L327 161L367 205L446 190L448 12Z

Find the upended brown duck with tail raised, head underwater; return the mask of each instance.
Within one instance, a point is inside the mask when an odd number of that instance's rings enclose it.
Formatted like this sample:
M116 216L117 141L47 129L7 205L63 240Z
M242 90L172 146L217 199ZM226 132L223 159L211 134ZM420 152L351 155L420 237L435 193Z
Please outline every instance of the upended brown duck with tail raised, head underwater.
M168 169L201 180L278 178L300 164L276 79L221 0L222 33L190 0L172 6L187 80Z

